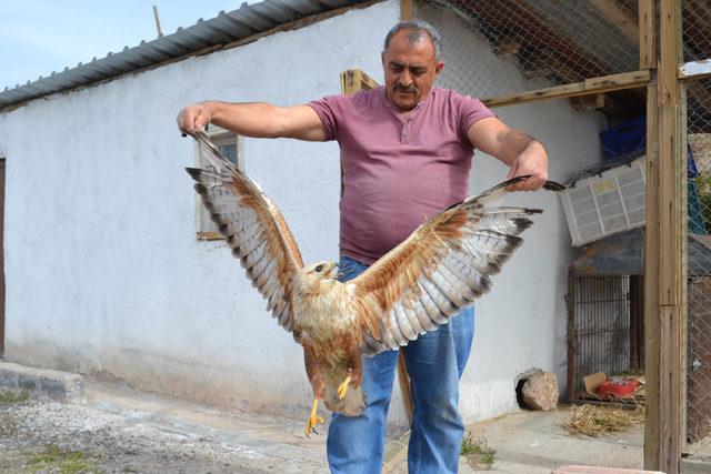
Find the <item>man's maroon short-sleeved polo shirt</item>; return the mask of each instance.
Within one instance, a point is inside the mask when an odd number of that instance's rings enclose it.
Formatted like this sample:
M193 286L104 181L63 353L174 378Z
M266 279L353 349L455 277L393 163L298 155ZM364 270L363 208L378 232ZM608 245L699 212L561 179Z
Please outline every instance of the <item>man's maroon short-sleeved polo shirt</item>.
M479 100L432 88L400 112L384 88L309 103L343 163L341 254L371 264L469 192L467 131L494 117Z

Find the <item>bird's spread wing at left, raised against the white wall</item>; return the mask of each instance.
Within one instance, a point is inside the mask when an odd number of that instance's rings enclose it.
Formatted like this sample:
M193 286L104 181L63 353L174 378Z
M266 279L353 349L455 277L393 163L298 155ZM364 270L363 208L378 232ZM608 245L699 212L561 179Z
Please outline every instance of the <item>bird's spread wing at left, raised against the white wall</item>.
M303 268L299 248L277 206L244 173L212 143L207 133L196 132L200 153L209 170L187 168L202 204L232 255L240 259L252 286L268 300L267 311L287 331L294 327L292 281ZM297 333L294 333L294 337Z

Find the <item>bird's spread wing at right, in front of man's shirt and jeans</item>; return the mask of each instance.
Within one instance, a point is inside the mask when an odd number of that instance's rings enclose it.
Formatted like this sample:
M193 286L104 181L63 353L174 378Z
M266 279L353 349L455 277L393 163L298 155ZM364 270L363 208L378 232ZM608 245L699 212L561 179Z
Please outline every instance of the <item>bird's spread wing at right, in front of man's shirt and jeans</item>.
M538 209L490 208L508 180L441 212L350 283L363 321L361 351L398 349L444 324L491 288L491 276L518 249ZM547 182L548 190L561 184Z

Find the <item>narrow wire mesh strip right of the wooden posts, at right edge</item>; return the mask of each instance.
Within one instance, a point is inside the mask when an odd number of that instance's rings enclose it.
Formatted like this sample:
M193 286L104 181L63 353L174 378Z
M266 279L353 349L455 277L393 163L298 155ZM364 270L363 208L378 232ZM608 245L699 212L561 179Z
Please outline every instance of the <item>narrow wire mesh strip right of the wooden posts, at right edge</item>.
M684 62L711 59L711 2L682 3ZM711 80L687 82L687 454L711 460Z

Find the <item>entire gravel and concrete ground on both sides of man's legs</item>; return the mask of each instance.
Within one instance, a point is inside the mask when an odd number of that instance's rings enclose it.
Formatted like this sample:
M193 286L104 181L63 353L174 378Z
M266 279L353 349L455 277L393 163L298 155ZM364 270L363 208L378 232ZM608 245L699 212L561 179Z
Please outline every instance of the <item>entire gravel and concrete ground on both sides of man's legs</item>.
M90 382L84 393L82 403L0 393L0 473L328 473L324 427L307 438L300 421ZM597 438L572 436L561 426L565 416L564 407L522 411L469 426L472 442L483 444L470 446L460 472L642 467L643 426ZM389 442L384 472L407 473L405 454L407 436ZM709 473L710 466L687 463L682 472Z

